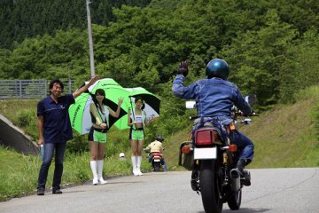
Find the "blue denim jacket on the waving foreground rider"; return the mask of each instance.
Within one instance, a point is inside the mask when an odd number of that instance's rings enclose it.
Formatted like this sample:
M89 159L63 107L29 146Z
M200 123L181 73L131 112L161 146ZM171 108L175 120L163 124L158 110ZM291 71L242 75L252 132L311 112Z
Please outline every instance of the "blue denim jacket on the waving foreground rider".
M244 114L252 114L252 108L241 95L234 83L211 78L198 80L184 87L184 76L177 75L173 82L172 91L176 97L195 99L198 106L198 117L217 118L227 125L233 121L231 107L237 106Z

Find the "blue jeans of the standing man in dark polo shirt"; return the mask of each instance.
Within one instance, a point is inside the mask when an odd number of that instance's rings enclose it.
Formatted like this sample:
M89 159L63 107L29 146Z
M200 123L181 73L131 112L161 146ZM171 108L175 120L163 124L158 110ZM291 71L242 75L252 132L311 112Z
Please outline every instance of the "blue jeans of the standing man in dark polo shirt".
M45 184L48 177L49 168L51 166L54 150L55 150L55 169L54 169L52 187L54 189L60 188L61 178L63 173L63 160L64 160L64 154L66 151L66 142L57 143L57 144L50 143L50 144L44 145L44 159L43 159L43 164L41 165L41 169L40 169L40 173L38 177L37 188L45 189Z

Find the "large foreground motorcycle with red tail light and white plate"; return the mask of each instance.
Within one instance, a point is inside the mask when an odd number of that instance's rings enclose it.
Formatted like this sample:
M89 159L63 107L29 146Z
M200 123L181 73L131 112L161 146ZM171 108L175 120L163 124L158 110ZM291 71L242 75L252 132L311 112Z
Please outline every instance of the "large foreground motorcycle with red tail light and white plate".
M246 97L249 99L249 97ZM250 104L252 104L251 102ZM196 108L194 101L186 101L187 108ZM234 110L236 110L234 108ZM239 111L233 112L234 122L227 131L236 129ZM191 116L195 119L197 116ZM201 194L205 212L222 212L223 203L227 202L231 210L240 208L243 186L250 183L250 173L245 177L237 170L240 150L225 138L221 124L214 120L200 120L201 126L194 128L191 140L180 146L179 165L191 173L191 188ZM243 119L239 123L249 124L251 120Z

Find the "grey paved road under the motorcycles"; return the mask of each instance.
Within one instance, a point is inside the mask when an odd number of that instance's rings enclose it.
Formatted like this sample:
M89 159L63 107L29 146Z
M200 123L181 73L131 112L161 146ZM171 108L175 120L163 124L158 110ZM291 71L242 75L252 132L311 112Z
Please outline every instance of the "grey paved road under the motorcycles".
M319 168L251 170L252 186L243 190L241 209L226 213L319 212ZM63 194L31 195L0 202L1 213L204 213L191 190L191 172L148 173L115 177L107 185L79 185Z

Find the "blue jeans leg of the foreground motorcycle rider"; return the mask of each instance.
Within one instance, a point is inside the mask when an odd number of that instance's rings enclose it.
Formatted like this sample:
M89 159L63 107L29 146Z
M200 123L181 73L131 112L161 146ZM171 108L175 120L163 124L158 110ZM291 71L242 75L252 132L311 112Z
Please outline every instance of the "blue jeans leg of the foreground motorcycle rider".
M231 144L237 145L237 148L241 150L239 159L253 160L253 141L237 130L230 132Z

